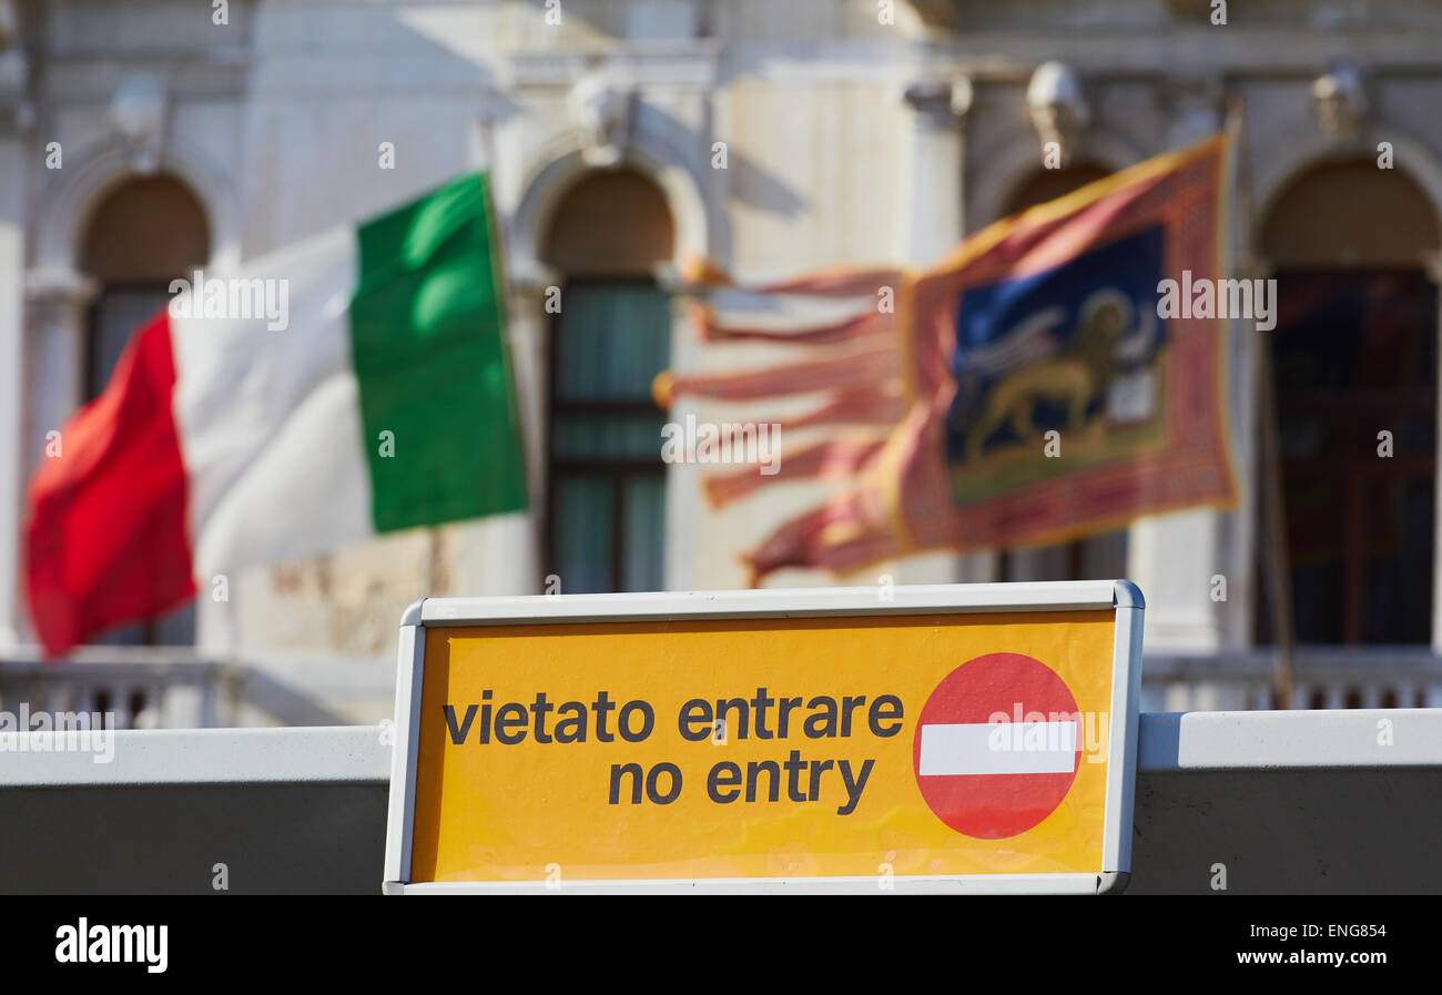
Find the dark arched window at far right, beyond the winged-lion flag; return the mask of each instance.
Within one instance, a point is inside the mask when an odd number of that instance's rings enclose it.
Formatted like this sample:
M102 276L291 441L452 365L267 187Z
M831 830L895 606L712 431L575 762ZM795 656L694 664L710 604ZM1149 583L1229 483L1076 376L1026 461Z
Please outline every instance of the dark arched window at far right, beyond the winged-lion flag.
M1439 244L1436 212L1416 183L1370 159L1306 172L1265 218L1301 643L1430 639L1438 291L1423 261ZM1256 619L1259 642L1269 642L1265 600Z

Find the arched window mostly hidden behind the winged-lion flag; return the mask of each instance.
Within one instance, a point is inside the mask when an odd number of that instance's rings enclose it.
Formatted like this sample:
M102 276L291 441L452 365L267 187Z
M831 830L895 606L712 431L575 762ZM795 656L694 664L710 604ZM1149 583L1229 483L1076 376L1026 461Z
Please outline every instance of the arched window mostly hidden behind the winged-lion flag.
M1038 169L1007 198L1005 215L1056 200L1110 173L1096 163L1074 163L1064 169ZM1126 575L1126 529L1100 532L1083 539L1047 547L1002 549L998 580L1110 580Z

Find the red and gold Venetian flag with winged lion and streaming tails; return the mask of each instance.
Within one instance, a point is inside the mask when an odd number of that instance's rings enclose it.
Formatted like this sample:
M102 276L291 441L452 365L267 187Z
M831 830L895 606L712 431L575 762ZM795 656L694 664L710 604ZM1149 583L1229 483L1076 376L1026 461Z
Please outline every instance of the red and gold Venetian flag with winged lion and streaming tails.
M786 330L728 326L696 304L708 345L809 355L658 378L662 407L819 397L777 420L816 435L767 467L779 472L707 480L714 503L790 480L838 485L746 555L751 583L786 567L845 575L913 552L1057 542L1142 515L1234 506L1226 320L1171 313L1159 298L1167 281L1190 290L1226 275L1229 154L1217 136L1146 160L998 221L926 270L832 268L737 287L692 264L696 288L861 303Z

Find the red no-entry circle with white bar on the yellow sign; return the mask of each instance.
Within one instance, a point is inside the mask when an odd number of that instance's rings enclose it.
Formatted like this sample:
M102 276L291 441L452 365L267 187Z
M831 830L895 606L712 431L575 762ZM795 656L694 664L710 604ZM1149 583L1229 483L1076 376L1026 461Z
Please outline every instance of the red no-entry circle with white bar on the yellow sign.
M988 653L936 685L911 761L936 818L968 836L1002 839L1056 812L1083 743L1076 698L1056 671L1022 653Z

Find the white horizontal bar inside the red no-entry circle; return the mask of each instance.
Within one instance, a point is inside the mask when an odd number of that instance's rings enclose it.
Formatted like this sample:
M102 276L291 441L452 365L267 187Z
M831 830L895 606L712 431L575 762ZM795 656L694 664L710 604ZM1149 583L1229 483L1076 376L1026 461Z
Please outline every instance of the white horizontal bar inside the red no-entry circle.
M1076 722L975 722L921 727L921 776L1069 774Z

